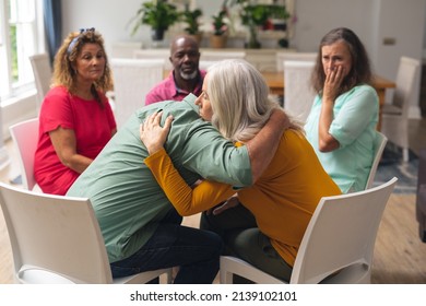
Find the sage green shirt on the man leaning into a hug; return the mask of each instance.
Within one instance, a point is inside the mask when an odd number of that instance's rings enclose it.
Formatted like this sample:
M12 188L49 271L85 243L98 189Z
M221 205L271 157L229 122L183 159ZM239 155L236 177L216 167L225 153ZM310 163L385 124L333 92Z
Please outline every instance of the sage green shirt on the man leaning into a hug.
M147 151L139 126L150 114L163 109L163 121L174 116L165 149L189 185L200 177L251 185L247 148L234 146L203 121L194 99L188 95L182 102L154 103L135 111L69 189L67 196L91 199L109 262L139 250L173 208L143 163Z

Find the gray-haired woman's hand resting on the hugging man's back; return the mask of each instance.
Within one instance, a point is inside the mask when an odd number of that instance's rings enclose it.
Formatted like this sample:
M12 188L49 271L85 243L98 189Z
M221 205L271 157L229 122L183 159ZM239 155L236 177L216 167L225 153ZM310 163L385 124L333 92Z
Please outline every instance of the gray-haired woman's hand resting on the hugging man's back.
M140 138L150 155L163 148L171 127L171 115L166 118L163 128L159 126L162 115L163 111L152 114L139 127Z

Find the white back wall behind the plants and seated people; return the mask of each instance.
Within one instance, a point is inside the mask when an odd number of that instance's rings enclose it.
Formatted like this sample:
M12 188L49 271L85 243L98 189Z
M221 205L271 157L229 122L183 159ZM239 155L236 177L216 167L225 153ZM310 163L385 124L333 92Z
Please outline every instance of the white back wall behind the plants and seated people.
M203 5L210 1L198 0ZM294 0L295 35L291 46L299 51L316 51L321 37L331 28L347 26L357 33L371 58L376 73L394 80L399 58L422 59L426 45L426 0ZM107 51L116 42L141 42L150 45L150 31L143 26L131 36L130 19L143 0L64 0L63 36L81 27L96 27L105 38ZM222 2L222 1L221 1ZM126 4L125 4L126 3ZM383 45L383 38L394 45ZM426 48L426 47L425 47ZM413 101L412 117L419 116L418 97Z

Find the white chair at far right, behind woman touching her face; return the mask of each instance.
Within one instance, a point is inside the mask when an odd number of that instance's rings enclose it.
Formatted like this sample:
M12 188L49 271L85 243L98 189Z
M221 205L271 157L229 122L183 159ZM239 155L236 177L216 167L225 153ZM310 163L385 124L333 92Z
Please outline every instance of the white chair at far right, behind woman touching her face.
M381 110L381 132L390 142L402 148L404 162L409 162L409 108L419 78L418 60L401 57L397 73L397 87L391 104L384 104Z

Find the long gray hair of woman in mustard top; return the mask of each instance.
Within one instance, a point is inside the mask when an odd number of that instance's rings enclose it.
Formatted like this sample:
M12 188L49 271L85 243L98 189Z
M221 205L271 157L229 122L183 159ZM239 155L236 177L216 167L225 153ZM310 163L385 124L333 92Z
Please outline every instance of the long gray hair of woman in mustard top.
M245 60L223 60L209 68L208 95L212 105L212 123L230 141L252 139L280 108L270 96L263 75ZM287 115L288 116L288 115ZM292 128L301 126L289 118Z

